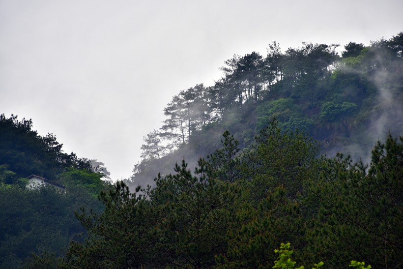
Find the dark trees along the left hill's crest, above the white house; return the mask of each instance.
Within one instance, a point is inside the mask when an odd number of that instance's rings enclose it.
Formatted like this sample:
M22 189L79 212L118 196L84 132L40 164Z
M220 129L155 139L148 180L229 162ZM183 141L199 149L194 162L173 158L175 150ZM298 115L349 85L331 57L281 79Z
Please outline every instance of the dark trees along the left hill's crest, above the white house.
M32 130L32 120L0 115L0 165L7 165L17 178L35 174L54 179L65 167L91 169L89 160L66 154L61 148L55 135L43 137Z

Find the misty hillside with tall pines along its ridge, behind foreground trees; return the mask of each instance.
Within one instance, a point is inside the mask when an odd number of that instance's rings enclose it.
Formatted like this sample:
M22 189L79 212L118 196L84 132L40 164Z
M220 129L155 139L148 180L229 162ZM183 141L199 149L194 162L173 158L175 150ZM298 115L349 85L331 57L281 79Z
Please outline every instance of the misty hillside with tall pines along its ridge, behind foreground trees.
M164 108L159 130L144 137L142 161L131 178L151 184L156 174L172 173L186 159L195 167L220 146L229 130L241 149L273 118L284 130L305 131L320 143L320 153L350 154L370 161L374 141L403 131L403 33L338 45L303 43L283 51L273 42L267 55L234 55L221 67L213 86L181 90Z

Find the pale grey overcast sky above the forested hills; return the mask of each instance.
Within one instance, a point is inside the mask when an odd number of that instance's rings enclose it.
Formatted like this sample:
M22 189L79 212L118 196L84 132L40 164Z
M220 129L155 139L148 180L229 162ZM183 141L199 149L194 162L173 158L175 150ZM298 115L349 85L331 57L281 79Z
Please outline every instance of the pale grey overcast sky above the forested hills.
M0 114L128 178L180 90L234 54L369 45L403 30L402 0L0 0Z

